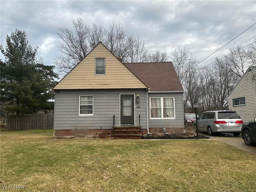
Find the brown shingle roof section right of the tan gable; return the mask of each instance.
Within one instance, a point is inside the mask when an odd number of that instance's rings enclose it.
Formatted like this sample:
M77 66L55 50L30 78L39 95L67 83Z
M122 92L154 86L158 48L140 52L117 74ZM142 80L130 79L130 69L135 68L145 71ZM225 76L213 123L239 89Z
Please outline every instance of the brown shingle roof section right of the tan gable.
M124 63L150 91L183 92L172 62Z

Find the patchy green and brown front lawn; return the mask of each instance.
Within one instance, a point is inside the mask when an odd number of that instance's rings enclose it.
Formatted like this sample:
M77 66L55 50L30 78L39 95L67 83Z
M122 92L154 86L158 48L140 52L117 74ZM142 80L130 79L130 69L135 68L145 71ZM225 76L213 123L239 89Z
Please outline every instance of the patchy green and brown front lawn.
M254 192L256 156L213 140L56 139L0 134L1 191Z

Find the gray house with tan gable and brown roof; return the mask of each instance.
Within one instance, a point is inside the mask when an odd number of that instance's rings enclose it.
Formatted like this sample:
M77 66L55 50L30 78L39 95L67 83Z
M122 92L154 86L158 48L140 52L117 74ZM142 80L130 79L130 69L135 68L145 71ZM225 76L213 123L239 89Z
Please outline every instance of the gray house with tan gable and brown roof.
M172 62L122 63L99 42L53 90L54 136L136 130L130 135L141 138L154 128L184 128L183 89Z

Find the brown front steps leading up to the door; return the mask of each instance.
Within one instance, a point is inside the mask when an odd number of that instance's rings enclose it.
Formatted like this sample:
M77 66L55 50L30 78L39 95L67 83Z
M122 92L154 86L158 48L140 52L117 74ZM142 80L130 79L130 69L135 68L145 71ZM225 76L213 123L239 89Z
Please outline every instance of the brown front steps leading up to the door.
M119 139L141 139L141 126L113 126L111 137Z

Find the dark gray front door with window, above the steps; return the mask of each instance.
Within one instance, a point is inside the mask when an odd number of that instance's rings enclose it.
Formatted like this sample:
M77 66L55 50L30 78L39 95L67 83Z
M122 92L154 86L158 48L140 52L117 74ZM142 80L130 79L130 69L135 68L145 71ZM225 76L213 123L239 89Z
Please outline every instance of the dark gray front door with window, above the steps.
M134 95L120 95L120 124L134 125Z

